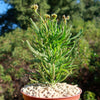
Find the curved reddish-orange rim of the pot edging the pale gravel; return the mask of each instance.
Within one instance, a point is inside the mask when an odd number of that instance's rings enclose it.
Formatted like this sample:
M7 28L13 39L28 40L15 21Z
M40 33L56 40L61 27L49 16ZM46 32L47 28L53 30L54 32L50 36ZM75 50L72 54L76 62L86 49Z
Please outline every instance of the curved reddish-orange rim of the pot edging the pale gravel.
M79 88L79 87L78 87ZM36 99L64 99L64 98L72 98L72 97L76 97L76 96L80 96L80 94L82 93L82 89L81 88L79 88L79 90L80 90L80 93L79 94L77 94L77 95L74 95L74 96L70 96L70 97L61 97L61 98L41 98L41 97L35 97L35 96L30 96L30 95L28 95L28 94L25 94L24 92L22 92L22 89L20 90L20 92L23 94L23 95L25 95L25 96L28 96L28 97L33 97L33 98L36 98Z

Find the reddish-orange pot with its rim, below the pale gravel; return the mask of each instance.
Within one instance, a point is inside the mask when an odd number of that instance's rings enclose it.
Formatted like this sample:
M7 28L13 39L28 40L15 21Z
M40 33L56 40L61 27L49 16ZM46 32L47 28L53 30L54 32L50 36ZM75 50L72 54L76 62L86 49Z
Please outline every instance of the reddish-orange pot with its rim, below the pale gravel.
M72 97L65 97L65 98L38 98L38 97L34 97L34 96L29 96L29 95L23 93L22 91L21 91L21 93L23 94L24 100L79 100L82 90L80 89L80 93L78 95L75 95Z

